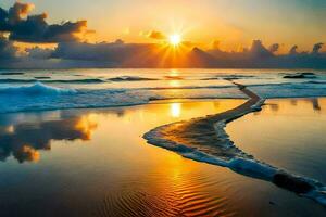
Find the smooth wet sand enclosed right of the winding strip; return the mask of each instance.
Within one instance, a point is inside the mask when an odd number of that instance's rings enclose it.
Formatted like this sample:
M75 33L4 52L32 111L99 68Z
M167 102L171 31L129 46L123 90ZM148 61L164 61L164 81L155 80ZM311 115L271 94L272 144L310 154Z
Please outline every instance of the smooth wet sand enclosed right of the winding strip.
M246 153L325 183L325 98L267 100L262 111L229 123L226 132Z

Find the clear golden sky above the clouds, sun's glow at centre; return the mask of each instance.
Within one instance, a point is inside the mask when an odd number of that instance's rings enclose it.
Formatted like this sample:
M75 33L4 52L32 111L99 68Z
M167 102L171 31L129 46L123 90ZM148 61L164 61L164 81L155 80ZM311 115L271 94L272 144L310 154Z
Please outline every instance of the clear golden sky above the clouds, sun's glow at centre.
M226 51L247 48L254 39L311 50L326 40L325 0L28 0L33 14L46 12L47 22L86 20L96 33L88 41L154 42L150 31L181 34L199 47L218 44ZM1 0L9 9L14 0ZM218 43L213 43L218 41ZM325 49L324 49L325 50Z

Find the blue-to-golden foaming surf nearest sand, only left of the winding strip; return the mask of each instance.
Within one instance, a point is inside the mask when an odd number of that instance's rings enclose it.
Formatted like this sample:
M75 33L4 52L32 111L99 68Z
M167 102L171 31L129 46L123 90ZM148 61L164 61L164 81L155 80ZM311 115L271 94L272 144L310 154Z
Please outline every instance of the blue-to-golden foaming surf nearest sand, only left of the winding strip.
M184 89L64 89L37 82L0 88L0 113L95 108L147 104L153 100L243 98L235 88Z

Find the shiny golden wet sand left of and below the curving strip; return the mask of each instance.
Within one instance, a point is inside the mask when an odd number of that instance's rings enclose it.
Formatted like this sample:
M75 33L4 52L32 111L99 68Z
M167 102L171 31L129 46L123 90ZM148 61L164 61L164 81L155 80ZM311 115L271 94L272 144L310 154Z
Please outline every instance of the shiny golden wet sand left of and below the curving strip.
M1 138L13 135L8 141L29 142L25 150L34 150L17 154L12 144L0 164L1 216L323 216L324 207L309 199L142 139L156 126L241 103L180 101L1 115L7 126Z

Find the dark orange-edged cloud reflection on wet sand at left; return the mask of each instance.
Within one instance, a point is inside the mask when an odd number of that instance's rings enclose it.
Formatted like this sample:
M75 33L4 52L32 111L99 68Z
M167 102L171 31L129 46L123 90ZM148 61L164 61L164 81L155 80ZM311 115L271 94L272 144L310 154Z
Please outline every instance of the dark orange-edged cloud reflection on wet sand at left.
M92 114L60 120L17 124L12 126L10 131L1 130L0 159L5 161L12 155L20 163L37 162L40 158L38 150L50 150L52 140L90 140L97 126L96 115Z

